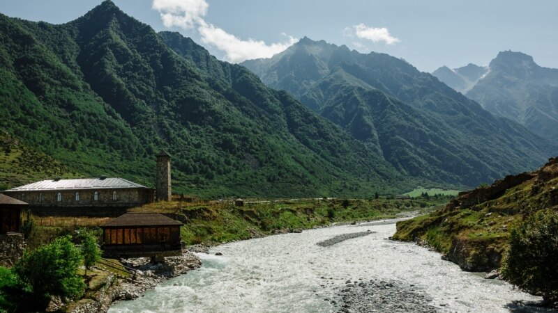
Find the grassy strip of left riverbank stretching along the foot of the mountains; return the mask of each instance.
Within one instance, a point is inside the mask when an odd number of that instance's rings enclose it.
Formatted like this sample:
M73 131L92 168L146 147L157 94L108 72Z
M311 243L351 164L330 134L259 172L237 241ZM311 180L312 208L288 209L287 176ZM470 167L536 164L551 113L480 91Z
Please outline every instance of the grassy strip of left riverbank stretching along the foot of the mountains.
M232 200L156 202L131 211L156 211L183 220L182 239L193 244L250 239L331 223L394 218L402 212L425 211L442 204L443 200L252 199L245 200L243 207L234 206Z

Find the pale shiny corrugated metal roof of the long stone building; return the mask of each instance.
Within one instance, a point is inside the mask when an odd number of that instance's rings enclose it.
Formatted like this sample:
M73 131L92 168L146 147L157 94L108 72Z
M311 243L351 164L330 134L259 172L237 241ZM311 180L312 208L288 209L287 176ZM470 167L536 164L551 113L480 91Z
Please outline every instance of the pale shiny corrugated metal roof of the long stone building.
M68 189L147 188L123 178L47 179L7 191L39 191Z

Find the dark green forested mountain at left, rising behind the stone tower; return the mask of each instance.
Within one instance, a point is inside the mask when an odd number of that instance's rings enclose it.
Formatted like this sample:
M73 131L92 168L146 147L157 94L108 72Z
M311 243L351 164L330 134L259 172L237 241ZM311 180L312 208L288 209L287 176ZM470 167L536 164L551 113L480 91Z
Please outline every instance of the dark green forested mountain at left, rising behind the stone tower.
M0 129L68 172L153 186L165 149L174 191L204 197L364 197L418 183L245 67L111 1L61 25L0 15L0 38Z

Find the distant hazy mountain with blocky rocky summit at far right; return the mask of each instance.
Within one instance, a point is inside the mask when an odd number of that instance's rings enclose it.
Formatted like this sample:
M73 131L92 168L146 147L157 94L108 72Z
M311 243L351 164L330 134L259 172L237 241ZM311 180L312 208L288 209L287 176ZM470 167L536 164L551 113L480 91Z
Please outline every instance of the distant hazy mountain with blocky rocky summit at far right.
M521 52L503 51L465 95L558 143L558 69L541 67Z

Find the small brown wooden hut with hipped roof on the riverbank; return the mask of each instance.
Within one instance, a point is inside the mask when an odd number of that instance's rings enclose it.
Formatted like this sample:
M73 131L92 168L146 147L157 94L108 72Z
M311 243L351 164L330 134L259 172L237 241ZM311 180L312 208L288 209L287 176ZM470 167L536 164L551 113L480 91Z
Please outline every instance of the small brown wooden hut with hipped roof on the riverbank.
M182 223L158 213L126 213L103 227L104 257L151 257L181 255Z

